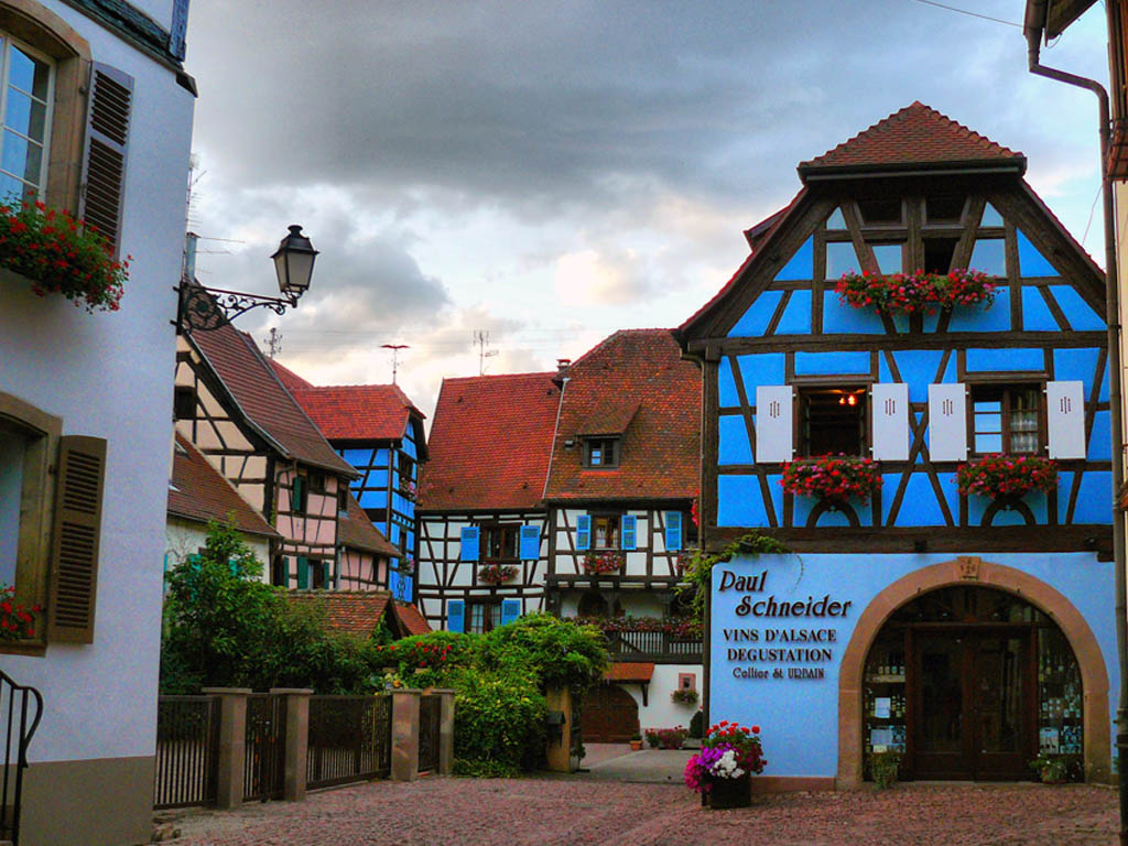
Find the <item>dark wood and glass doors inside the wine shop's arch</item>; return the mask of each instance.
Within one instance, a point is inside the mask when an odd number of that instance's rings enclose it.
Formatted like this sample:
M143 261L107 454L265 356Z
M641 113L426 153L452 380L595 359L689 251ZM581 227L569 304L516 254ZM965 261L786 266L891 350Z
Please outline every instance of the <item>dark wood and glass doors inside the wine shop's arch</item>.
M1039 752L1081 772L1081 671L1052 619L1006 591L959 584L885 620L865 662L862 739L909 778L1019 781Z

